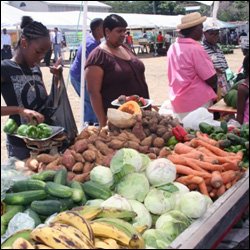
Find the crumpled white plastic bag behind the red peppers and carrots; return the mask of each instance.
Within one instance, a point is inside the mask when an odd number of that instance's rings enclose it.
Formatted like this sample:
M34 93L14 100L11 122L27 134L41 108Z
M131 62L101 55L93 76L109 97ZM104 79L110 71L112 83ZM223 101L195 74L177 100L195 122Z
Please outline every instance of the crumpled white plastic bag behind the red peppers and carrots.
M189 113L183 120L184 128L191 128L194 130L199 129L199 124L201 122L206 122L212 126L219 127L220 122L215 121L213 114L210 113L206 108L199 108L191 113Z

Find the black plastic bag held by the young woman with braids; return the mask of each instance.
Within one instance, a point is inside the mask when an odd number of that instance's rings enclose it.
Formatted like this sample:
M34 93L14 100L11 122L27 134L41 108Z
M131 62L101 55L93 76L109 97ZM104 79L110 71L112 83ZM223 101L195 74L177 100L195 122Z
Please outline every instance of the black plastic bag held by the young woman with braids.
M67 148L74 142L78 131L62 75L58 81L58 84L56 84L55 77L53 77L51 92L42 113L45 116L46 123L65 129L67 141L64 148Z

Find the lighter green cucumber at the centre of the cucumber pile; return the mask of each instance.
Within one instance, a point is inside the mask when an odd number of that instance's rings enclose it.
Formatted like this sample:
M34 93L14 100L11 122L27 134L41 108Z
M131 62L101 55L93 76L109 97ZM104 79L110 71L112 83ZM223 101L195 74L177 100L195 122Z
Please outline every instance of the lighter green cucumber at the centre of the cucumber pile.
M58 198L70 198L73 194L72 188L54 182L47 182L45 191Z

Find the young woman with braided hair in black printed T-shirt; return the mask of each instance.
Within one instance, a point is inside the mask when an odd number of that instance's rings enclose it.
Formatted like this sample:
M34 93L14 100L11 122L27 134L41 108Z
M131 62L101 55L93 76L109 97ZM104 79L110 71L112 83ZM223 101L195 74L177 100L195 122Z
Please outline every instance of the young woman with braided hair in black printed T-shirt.
M6 107L1 106L1 115L9 115L18 125L36 120L44 121L40 113L47 100L39 63L51 47L48 29L31 17L24 16L21 22L21 37L12 59L1 62L1 94ZM51 68L58 74L56 67ZM22 139L7 135L9 157L20 160L30 152Z

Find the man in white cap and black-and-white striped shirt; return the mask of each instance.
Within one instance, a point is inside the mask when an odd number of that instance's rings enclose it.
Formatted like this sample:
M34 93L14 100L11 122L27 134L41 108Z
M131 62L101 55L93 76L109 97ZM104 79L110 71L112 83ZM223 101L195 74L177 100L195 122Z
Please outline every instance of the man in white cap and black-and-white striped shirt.
M214 91L218 95L218 100L220 100L230 89L226 78L227 60L218 46L220 28L214 22L208 22L204 24L203 32L203 47L211 58L217 73L218 83Z

